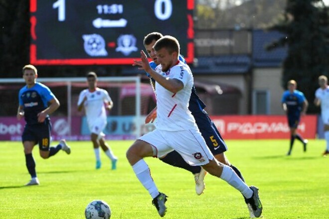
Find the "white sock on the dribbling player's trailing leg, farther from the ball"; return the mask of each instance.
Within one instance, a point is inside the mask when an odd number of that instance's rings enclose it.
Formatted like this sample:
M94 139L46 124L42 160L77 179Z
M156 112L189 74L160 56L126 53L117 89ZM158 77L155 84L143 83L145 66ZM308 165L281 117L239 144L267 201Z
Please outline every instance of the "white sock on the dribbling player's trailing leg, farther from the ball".
M223 165L223 172L220 178L239 190L246 199L251 198L253 191L236 175L231 167Z

